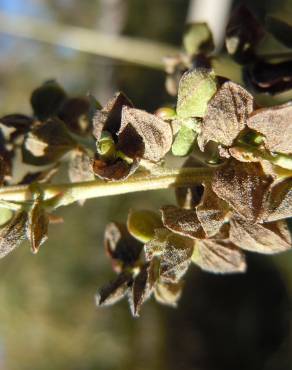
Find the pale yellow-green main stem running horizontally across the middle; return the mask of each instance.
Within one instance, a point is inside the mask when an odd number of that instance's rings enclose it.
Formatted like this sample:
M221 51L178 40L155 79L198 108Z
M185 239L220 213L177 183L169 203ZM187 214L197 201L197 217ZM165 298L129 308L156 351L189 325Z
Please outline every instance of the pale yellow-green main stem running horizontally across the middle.
M78 200L200 184L209 180L213 171L213 168L162 169L154 175L137 173L120 182L95 180L64 184L38 184L38 191L42 192L43 199L48 203L51 200L54 204L55 198L54 208L57 208ZM0 201L29 202L33 200L33 195L32 187L29 185L0 188Z

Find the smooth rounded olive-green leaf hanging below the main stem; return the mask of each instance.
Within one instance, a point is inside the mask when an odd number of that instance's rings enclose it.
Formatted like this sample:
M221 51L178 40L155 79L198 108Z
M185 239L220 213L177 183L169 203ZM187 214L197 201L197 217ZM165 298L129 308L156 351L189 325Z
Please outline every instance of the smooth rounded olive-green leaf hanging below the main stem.
M159 215L149 210L131 210L128 216L127 226L129 233L142 243L147 243L155 236L155 229L162 227Z

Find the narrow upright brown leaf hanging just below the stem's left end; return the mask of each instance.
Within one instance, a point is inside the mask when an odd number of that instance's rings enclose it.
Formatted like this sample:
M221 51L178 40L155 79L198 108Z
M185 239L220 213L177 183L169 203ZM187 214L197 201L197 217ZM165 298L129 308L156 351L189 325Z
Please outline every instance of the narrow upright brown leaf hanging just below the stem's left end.
M35 200L28 213L27 238L31 243L31 250L37 253L41 244L48 238L49 216L42 207L41 201Z

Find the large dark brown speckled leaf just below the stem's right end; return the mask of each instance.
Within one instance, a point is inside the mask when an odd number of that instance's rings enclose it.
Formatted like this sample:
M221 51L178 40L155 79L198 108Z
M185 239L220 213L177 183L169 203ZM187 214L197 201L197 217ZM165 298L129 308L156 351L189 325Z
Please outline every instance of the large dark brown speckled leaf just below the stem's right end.
M273 178L260 163L229 160L213 177L213 191L244 218L255 221L262 212L263 200Z

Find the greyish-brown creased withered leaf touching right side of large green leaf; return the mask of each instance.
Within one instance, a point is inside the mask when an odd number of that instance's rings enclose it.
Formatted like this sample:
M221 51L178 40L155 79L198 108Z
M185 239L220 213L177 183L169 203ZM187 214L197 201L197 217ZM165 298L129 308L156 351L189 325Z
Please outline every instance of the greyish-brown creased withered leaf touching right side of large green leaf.
M204 151L210 140L231 146L252 110L252 95L234 82L225 82L208 104L198 137L200 149Z

